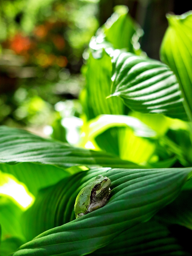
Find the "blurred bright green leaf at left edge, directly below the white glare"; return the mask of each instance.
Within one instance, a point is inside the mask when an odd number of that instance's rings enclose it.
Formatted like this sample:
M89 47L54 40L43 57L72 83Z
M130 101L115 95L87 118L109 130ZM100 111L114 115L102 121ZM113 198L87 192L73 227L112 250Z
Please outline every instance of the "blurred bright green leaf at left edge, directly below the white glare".
M0 223L2 227L2 241L9 237L17 237L26 241L20 226L22 209L12 200L0 196Z

